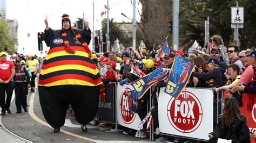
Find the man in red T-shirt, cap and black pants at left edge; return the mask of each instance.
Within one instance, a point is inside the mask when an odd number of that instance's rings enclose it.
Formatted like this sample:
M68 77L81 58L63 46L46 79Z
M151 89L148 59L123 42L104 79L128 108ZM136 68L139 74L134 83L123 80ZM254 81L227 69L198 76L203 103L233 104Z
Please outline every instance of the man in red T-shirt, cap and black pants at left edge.
M15 75L14 63L7 59L7 53L1 52L0 61L0 105L2 108L1 115L5 115L5 111L11 114L11 96L14 90L14 82L12 82L12 77ZM5 101L6 92L6 101Z

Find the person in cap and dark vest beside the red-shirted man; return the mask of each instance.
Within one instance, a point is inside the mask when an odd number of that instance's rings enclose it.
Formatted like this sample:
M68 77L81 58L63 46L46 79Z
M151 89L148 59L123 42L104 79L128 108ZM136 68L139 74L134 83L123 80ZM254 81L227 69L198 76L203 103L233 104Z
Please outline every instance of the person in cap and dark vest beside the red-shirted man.
M26 92L30 87L30 76L25 67L21 65L21 59L15 61L15 76L14 76L14 89L15 89L15 104L17 108L16 113L21 113L23 107L25 112L26 108Z

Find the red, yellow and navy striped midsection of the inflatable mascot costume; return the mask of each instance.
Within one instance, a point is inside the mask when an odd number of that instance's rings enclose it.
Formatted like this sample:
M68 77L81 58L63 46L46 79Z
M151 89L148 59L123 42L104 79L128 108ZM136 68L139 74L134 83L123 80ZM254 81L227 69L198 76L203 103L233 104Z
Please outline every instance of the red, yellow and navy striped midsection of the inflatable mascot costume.
M99 71L89 59L84 47L70 46L76 51L69 54L64 46L53 47L46 56L39 76L40 86L102 84Z

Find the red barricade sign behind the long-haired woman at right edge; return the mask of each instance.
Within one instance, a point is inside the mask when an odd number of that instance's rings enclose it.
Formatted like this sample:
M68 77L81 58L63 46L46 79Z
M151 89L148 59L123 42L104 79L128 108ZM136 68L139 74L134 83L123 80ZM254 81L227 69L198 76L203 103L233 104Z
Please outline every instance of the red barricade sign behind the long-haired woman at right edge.
M227 97L228 91L223 92L223 101ZM242 94L242 103L240 111L246 117L246 124L250 132L256 132L256 94ZM255 139L251 138L251 142Z

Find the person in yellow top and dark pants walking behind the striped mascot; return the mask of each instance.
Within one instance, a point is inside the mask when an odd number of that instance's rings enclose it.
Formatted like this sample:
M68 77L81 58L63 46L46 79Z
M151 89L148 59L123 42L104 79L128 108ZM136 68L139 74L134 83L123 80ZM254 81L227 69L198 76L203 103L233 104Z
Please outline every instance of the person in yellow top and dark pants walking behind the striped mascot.
M31 77L31 92L35 92L35 78L36 78L36 74L37 74L37 70L39 67L39 62L38 60L35 58L35 56L33 56L33 54L29 54L29 60L26 61L26 66L29 68L32 77Z

